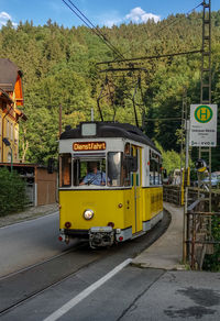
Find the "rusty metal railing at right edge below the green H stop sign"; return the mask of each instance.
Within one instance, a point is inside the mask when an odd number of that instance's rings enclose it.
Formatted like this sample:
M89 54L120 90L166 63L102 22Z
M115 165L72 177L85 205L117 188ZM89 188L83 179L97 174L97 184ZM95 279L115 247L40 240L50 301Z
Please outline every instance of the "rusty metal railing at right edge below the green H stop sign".
M220 191L212 191L212 212L208 211L206 191L202 193L204 199L195 200L195 196L198 196L198 188L189 188L188 196L190 196L189 201L194 201L187 207L186 213L187 261L191 269L202 269L205 256L219 252Z

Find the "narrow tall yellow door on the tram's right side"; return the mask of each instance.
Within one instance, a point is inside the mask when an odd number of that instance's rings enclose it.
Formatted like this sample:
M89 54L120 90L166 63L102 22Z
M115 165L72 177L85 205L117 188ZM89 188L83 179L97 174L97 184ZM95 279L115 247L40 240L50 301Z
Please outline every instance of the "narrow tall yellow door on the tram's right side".
M141 210L141 148L132 145L132 155L136 157L138 170L132 173L132 185L134 189L134 229L133 232L142 231L142 210Z

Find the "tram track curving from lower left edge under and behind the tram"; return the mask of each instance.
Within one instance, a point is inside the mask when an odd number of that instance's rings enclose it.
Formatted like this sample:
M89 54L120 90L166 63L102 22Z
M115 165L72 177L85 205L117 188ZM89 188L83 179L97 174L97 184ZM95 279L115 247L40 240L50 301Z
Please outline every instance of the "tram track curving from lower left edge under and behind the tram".
M162 224L147 234L120 246L96 251L89 248L88 243L81 242L50 259L0 278L1 296L3 294L0 300L0 317L107 256L120 259L124 259L127 255L134 257L151 246L166 231L169 222L170 217L166 214Z

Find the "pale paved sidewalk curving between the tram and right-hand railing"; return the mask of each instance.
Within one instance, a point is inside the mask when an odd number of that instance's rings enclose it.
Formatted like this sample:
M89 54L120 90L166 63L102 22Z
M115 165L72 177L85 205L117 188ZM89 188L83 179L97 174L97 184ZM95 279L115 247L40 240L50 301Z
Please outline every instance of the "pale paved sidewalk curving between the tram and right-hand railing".
M172 214L167 231L148 248L136 256L132 264L140 267L163 269L184 269L183 257L183 223L184 208L164 202L164 208Z

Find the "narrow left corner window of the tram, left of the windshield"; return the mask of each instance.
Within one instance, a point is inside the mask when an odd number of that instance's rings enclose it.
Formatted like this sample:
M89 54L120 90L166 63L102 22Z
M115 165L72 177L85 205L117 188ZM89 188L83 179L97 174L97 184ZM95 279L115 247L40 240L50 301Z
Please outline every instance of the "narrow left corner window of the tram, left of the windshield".
M72 154L61 155L59 187L72 185Z

